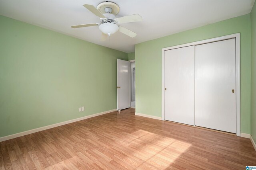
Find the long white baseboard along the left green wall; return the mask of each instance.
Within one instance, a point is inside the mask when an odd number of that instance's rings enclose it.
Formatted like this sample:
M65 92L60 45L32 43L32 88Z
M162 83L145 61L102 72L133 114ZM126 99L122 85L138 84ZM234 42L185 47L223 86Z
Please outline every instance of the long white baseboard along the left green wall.
M110 112L113 112L113 111L116 111L116 109L112 109L112 110L108 110L108 111L104 111L104 112L101 112L101 113L96 113L96 114L88 115L88 116L84 116L84 117L79 117L79 118L68 120L68 121L63 121L63 122L56 123L56 124L53 124L53 125L48 125L48 126L39 127L39 128L36 128L36 129L31 129L31 130L20 132L20 133L15 133L13 135L8 135L8 136L0 137L0 142L6 141L6 140L9 140L9 139L14 139L16 137L21 137L21 136L24 136L24 135L28 135L28 134L31 134L31 133L36 133L36 132L39 132L39 131L44 131L46 129L51 129L53 127L58 127L58 126L61 126L61 125L66 125L68 123L73 123L73 122L76 122L76 121L88 119L88 118L91 118L91 117L95 117L95 116L99 116L99 115L104 115L106 113L110 113Z

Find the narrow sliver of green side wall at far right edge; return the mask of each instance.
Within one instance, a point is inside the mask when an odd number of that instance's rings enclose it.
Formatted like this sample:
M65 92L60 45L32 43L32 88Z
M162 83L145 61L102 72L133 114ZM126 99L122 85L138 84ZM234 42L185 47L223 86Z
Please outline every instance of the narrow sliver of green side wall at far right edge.
M251 11L251 135L256 143L256 3Z

